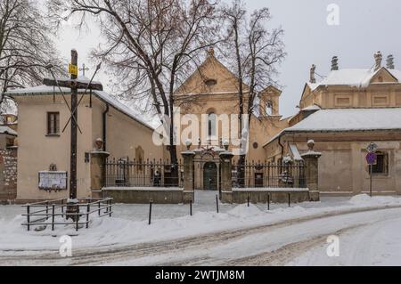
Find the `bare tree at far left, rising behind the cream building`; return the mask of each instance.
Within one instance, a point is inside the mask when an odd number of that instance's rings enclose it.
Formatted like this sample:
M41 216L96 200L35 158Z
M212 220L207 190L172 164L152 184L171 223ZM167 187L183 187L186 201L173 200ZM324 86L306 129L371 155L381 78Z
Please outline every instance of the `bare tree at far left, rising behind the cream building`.
M37 1L0 2L0 104L7 104L4 93L12 87L41 82L45 65L61 66L55 60L51 28L37 9ZM58 69L59 71L61 69Z

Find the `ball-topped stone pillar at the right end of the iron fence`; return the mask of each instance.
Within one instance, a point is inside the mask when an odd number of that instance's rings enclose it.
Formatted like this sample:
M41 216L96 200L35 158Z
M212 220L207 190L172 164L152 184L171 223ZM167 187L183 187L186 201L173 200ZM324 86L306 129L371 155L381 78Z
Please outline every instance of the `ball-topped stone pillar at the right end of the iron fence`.
M316 152L314 146L315 142L313 140L308 141L307 147L309 150L302 154L301 157L305 161L305 177L310 200L319 201L319 158L322 156L322 153Z

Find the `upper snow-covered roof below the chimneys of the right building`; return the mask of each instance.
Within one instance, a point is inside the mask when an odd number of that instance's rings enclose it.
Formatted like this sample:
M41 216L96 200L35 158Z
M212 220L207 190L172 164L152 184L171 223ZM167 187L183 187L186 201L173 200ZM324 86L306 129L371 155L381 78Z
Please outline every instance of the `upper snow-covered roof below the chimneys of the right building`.
M382 67L381 69L386 69ZM307 85L314 91L320 85L351 85L358 87L366 87L381 69L374 71L373 69L339 69L332 70L329 75L321 82ZM397 69L386 69L389 73L396 77L398 82L401 83L401 71Z

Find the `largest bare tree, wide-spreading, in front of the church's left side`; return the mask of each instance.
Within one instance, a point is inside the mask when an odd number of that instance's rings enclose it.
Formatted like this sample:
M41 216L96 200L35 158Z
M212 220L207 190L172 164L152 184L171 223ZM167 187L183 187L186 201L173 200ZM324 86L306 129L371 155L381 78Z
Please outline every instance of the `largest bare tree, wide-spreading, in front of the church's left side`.
M49 4L54 14L67 10L67 18L79 15L79 26L88 14L98 20L107 45L94 56L114 70L119 93L137 101L143 110L156 110L168 118L162 122L169 128L168 150L176 165L174 93L196 67L200 53L217 43L217 4L209 0L56 0Z

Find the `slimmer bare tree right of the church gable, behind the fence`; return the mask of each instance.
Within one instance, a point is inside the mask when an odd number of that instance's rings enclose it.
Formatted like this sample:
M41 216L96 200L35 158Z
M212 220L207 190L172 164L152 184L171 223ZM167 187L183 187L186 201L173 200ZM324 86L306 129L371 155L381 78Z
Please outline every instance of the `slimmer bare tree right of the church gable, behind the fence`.
M283 30L268 28L271 15L267 8L252 12L248 19L241 0L234 0L231 5L225 6L222 15L227 25L227 36L223 45L226 60L238 78L239 119L242 129L245 127L242 114L249 114L250 124L253 116L257 115L255 107L258 105L259 93L268 85L276 85L274 77L277 75L277 67L286 55L282 42ZM244 84L248 86L246 91ZM246 153L243 153L239 159L240 181L244 177L241 165L244 165L245 158Z

